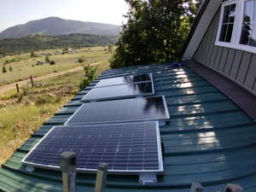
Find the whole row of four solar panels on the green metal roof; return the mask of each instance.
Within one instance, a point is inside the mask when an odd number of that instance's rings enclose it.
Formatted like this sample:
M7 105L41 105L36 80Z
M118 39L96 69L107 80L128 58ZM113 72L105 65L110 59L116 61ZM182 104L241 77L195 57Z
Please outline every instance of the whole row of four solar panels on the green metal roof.
M60 154L71 151L81 172L108 163L109 172L162 173L159 121L170 116L165 97L152 95L151 73L102 79L65 125L51 129L22 162L59 169Z

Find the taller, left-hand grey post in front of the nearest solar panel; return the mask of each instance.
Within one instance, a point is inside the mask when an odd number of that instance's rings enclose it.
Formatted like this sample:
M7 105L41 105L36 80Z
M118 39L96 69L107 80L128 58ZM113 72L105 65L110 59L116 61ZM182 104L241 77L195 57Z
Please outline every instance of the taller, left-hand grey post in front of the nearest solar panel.
M63 152L60 157L63 192L76 192L77 155Z

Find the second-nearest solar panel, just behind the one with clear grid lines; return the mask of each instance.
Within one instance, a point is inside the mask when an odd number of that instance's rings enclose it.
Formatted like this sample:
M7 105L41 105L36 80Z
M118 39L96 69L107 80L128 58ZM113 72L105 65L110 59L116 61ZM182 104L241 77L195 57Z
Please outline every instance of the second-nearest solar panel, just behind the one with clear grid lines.
M170 119L164 96L84 103L66 125L123 123Z

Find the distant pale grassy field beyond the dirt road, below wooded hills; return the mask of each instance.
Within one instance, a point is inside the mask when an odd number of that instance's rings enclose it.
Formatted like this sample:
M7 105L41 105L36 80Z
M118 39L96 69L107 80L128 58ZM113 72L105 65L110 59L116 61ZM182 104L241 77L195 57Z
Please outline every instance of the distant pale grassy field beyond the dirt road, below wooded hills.
M36 52L38 57L31 57L30 54L15 55L3 57L0 59L0 86L4 84L14 83L16 81L28 79L30 76L38 77L44 74L65 71L73 67L83 66L86 63L97 61L108 61L110 54L104 47L84 48L78 49L76 53L65 55L49 55L49 59L55 61L55 65L36 65L38 61L44 61L45 56L43 53L53 53L54 50L44 50ZM39 56L41 55L41 56ZM79 63L79 58L84 58L83 63ZM4 64L7 60L19 60ZM2 72L3 64L7 69L7 73ZM12 71L9 71L9 67Z

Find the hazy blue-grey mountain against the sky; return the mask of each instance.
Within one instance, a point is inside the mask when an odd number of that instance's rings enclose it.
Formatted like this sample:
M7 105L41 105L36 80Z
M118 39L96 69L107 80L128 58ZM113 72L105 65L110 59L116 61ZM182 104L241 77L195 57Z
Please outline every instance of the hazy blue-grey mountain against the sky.
M0 38L23 38L32 34L55 36L70 33L114 36L118 35L119 31L120 26L49 17L42 20L32 20L23 25L9 27L3 32L0 32Z

